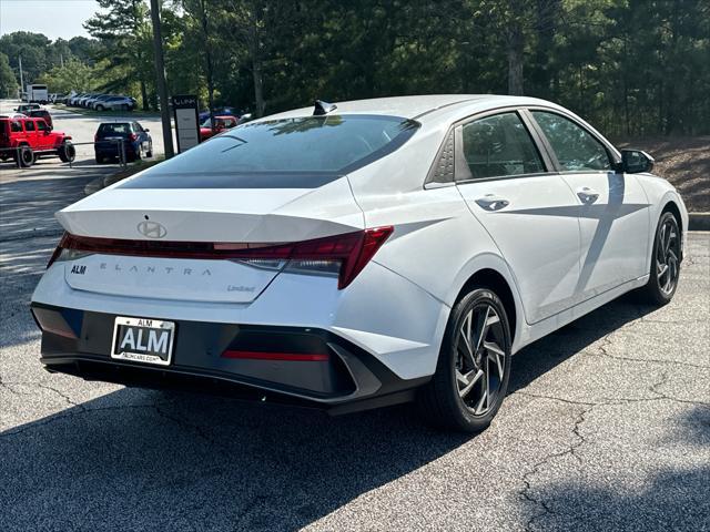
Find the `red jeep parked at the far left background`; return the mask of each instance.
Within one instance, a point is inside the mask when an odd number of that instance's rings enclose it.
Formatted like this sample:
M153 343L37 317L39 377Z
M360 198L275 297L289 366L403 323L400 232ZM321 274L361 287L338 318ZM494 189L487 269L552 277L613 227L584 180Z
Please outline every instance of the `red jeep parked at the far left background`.
M52 131L44 119L0 116L0 161L12 158L29 167L40 156L57 155L64 163L74 160L71 136Z

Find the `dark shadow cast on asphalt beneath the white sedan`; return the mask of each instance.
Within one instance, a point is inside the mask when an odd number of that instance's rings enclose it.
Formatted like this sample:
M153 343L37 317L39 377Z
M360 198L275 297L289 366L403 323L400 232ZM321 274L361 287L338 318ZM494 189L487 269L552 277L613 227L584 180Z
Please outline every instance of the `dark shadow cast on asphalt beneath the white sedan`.
M537 342L513 389L643 313L620 300ZM470 440L412 406L329 418L130 388L78 402L41 382L1 385L68 407L0 433L3 530L295 530Z

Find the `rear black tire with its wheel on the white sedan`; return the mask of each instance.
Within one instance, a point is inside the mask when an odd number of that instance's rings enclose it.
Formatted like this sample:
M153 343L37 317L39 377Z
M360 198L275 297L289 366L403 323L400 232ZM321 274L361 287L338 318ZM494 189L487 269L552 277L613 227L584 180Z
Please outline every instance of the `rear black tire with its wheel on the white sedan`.
M475 330L468 341L466 330ZM471 335L480 337L478 345ZM500 298L488 288L475 288L464 296L449 316L436 372L417 395L425 419L447 430L475 433L486 429L508 389L510 347L508 317Z

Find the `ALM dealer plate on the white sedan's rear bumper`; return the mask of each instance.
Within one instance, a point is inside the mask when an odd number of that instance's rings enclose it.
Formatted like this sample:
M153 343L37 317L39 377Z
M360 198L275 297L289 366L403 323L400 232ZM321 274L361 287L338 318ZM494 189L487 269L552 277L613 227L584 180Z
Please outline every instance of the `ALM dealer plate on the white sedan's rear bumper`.
M169 366L174 335L174 321L119 316L113 326L111 358Z

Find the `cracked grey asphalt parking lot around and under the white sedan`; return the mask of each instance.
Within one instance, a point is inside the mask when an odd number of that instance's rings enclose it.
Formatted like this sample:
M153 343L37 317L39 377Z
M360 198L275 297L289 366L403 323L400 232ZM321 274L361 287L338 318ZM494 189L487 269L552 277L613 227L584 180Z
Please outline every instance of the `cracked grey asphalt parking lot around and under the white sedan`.
M710 530L709 233L667 307L626 296L521 351L470 438L410 406L328 418L47 374L28 303L51 214L97 174L2 172L3 531Z

